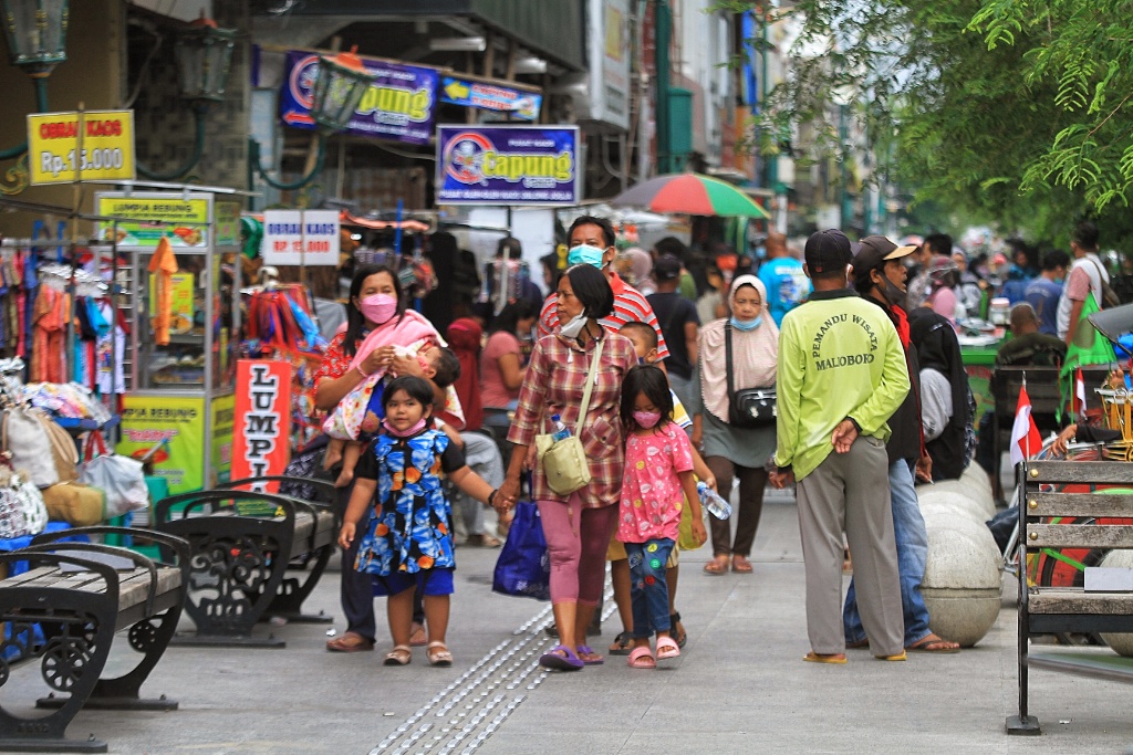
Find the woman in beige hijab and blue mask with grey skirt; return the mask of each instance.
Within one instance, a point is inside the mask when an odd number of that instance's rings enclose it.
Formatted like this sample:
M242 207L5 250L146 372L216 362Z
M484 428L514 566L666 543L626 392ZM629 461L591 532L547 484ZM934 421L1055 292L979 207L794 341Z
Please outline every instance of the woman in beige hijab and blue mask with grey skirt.
M764 508L767 471L764 464L775 451L775 426L738 428L729 422L729 380L735 391L775 385L778 328L767 310L767 290L755 275L740 275L729 293L730 318L700 328L700 358L692 375L692 444L700 448L718 489L727 496L733 478L740 480L735 538L731 521L712 520L714 559L707 574L725 574L731 563L738 574L751 573L748 556L756 541ZM732 366L727 363L727 337L732 338Z

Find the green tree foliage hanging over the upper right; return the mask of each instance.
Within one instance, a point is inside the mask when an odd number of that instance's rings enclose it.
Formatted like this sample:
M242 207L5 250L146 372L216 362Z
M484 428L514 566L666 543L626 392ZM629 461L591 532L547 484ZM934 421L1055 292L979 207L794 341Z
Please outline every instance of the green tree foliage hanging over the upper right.
M813 137L801 157L845 158L835 100L850 102L875 154L888 157L880 169L914 201L1036 240L1060 242L1085 216L1108 244L1133 237L1127 0L799 0L783 10L726 0L718 8L757 9L767 23L790 14L801 26L784 51L790 80L758 119L765 153L781 144L772 135L793 128Z

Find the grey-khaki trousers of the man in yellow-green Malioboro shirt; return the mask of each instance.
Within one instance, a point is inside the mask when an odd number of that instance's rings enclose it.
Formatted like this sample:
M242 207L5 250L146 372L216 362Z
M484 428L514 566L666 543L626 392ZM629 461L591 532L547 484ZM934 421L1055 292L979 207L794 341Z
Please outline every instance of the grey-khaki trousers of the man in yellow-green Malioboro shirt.
M889 507L885 444L859 437L799 480L799 530L807 568L807 632L816 653L845 652L842 627L842 533L853 558L854 586L869 649L895 655L904 619Z

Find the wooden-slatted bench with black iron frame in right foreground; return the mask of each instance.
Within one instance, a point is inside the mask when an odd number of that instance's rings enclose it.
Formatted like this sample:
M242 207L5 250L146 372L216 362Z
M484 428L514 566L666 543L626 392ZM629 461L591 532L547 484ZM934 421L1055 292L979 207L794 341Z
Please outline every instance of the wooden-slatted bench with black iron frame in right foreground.
M1023 465L1020 564L1028 563L1028 554L1034 555L1041 549L1107 551L1133 548L1133 495L1063 490L1067 484L1088 486L1088 489L1124 487L1131 480L1133 464L1126 462L1026 462ZM1072 523L1059 521L1071 517ZM1133 683L1133 661L1113 651L1030 652L1032 636L1064 632L1133 632L1133 593L1085 592L1077 586L1029 586L1026 568L1020 569L1019 715L1007 718L1007 733L1041 732L1038 719L1028 711L1030 668Z

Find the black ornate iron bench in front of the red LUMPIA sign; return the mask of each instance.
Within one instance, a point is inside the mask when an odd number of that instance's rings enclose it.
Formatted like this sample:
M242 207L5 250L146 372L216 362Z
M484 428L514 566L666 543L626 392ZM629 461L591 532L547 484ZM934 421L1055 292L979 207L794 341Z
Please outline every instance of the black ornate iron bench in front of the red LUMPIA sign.
M252 630L272 610L299 615L338 534L334 508L326 503L225 489L157 501L154 526L189 542L185 611L197 632L178 635L174 643L191 645L286 646L273 635L253 637ZM289 564L310 554L316 568L307 580L286 582Z

